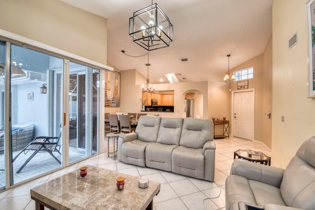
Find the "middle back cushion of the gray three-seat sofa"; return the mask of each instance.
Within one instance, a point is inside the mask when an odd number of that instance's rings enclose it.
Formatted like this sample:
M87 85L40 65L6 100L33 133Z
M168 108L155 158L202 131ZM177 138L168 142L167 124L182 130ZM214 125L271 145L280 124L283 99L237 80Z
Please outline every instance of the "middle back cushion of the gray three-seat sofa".
M183 127L183 118L163 117L158 130L157 142L179 145Z

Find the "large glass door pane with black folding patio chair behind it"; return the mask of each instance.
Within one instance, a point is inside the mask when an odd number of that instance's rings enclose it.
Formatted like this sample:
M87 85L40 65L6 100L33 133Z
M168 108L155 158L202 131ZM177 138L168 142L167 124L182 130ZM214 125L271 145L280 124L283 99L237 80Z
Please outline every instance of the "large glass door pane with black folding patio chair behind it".
M11 149L13 184L62 167L63 59L11 45ZM38 136L34 145L28 144ZM57 142L51 150L43 142Z

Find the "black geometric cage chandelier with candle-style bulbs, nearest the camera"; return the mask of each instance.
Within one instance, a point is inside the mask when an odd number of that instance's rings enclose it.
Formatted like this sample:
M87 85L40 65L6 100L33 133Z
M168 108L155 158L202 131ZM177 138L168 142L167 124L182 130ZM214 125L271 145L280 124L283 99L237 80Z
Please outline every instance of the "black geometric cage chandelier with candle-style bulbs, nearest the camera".
M157 3L133 13L129 18L129 35L147 51L169 46L173 41L173 25Z

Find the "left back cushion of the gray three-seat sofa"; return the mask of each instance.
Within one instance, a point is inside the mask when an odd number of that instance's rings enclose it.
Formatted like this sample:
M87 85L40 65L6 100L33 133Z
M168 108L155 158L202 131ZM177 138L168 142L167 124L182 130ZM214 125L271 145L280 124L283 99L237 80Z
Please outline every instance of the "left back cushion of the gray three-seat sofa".
M160 122L161 117L141 116L135 130L138 134L138 139L146 142L156 142Z

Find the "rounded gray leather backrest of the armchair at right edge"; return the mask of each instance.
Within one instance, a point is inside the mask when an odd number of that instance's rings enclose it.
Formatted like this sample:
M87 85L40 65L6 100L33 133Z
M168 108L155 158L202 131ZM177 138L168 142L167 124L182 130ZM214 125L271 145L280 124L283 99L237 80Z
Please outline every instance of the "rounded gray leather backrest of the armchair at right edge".
M287 206L315 210L315 136L301 145L287 165L280 189Z

